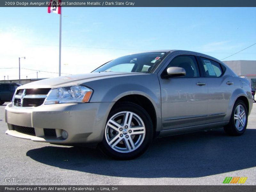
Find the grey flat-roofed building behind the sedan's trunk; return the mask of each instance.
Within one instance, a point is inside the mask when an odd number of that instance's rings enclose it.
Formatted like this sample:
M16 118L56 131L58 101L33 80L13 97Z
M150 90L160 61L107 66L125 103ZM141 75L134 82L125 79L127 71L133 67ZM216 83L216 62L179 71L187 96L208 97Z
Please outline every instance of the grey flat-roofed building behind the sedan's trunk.
M256 61L236 60L223 61L238 76L246 76L252 84L252 88L256 88Z

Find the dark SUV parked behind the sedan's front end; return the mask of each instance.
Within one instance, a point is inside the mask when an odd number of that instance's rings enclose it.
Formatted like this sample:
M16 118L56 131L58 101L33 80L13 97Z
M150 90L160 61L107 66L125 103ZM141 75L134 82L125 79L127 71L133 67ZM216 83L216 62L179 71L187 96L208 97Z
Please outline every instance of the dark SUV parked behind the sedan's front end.
M13 94L20 84L17 83L0 83L0 105L12 100Z

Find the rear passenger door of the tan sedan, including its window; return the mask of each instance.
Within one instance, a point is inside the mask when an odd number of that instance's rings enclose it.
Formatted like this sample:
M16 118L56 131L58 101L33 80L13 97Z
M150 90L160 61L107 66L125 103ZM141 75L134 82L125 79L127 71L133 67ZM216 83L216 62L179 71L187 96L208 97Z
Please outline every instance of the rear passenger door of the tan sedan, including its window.
M208 84L208 123L224 121L228 104L234 90L233 76L225 74L219 62L199 57Z

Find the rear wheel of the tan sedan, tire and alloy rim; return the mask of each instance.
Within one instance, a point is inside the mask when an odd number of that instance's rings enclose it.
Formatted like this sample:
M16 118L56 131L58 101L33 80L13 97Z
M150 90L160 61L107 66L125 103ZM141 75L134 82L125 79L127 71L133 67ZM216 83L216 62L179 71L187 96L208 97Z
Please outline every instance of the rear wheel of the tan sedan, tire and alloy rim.
M244 101L237 100L233 107L229 123L226 126L224 126L224 131L228 135L240 136L245 132L247 122L247 107L244 104Z

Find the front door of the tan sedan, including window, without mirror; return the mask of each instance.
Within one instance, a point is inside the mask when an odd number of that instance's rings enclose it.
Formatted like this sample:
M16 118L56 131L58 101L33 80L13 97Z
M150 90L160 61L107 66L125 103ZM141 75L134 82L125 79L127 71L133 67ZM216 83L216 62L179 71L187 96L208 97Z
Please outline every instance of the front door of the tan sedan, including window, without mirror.
M195 55L174 55L159 78L161 86L162 129L206 124L208 86L201 76ZM169 67L181 67L185 76L163 78Z

